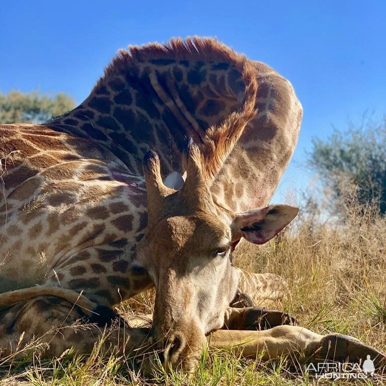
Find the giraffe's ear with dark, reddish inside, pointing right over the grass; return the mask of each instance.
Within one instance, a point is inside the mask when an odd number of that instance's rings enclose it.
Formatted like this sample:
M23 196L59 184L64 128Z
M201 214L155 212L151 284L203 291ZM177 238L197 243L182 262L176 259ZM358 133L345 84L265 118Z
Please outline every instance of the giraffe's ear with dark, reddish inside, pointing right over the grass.
M276 236L299 212L288 205L270 205L236 215L233 220L232 242L244 237L253 244L264 244Z

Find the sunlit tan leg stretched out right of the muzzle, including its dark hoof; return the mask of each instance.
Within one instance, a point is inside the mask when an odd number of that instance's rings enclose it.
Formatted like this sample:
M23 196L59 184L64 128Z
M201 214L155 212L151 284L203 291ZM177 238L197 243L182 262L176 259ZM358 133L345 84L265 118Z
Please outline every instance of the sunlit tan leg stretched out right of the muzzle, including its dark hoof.
M211 349L232 349L245 357L262 360L291 356L308 361L348 361L359 363L370 355L376 368L386 366L386 356L346 335L316 334L304 327L278 326L263 331L217 330L208 336Z

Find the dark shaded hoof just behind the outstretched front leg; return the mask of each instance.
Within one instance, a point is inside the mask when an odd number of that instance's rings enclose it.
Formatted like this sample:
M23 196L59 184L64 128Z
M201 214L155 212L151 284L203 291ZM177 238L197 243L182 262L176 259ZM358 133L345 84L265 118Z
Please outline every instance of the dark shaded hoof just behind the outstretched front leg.
M268 330L284 324L298 324L298 321L292 316L265 307L251 307L245 311L244 330Z

